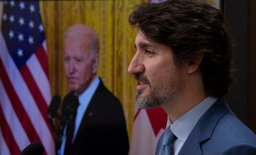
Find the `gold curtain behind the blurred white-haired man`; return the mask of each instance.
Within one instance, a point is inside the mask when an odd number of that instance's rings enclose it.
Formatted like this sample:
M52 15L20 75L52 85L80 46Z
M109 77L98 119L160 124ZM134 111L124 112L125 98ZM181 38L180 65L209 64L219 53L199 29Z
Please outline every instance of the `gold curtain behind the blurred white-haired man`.
M64 97L63 33L75 23L95 29L100 38L98 76L122 102L129 137L132 133L136 82L127 68L134 55L137 30L131 30L128 17L132 7L147 0L40 1L48 49L49 80L52 95Z

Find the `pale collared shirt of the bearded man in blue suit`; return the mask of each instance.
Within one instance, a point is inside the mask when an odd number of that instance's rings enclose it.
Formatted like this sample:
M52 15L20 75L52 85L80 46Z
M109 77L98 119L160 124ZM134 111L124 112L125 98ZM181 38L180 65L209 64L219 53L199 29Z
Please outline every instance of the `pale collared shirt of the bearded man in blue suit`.
M170 118L167 119L166 128L171 126L172 133L176 135L176 139L171 144L174 150L174 155L177 155L183 144L185 143L188 135L202 117L202 115L218 100L218 97L207 97L198 105L190 109L190 111L179 117L174 123L171 122Z

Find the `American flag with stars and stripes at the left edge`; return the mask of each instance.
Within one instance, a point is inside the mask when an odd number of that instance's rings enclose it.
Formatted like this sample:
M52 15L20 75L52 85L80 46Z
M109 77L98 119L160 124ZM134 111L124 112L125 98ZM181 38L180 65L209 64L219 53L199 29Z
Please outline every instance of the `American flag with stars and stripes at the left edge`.
M38 1L4 1L0 38L0 155L39 141L55 154L47 121L51 92Z

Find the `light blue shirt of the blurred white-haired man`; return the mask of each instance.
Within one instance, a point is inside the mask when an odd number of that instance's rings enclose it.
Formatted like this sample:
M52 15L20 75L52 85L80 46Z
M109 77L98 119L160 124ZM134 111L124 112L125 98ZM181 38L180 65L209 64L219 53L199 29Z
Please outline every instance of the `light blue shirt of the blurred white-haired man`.
M72 139L72 143L74 143L76 133L78 132L78 128L80 126L84 113L99 84L100 84L100 78L96 77L92 82L92 84L78 97L79 106L76 112L74 137ZM60 150L58 150L58 155L64 155L65 143L66 143L66 126L63 131L62 144L60 146Z

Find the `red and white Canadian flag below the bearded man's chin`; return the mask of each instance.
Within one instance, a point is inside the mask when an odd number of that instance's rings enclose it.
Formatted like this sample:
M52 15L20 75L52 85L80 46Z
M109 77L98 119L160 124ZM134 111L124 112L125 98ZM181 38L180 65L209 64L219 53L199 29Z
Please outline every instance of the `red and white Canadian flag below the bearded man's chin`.
M140 109L135 106L130 155L155 155L156 145L165 131L167 114L158 107Z

